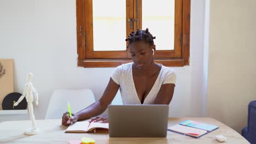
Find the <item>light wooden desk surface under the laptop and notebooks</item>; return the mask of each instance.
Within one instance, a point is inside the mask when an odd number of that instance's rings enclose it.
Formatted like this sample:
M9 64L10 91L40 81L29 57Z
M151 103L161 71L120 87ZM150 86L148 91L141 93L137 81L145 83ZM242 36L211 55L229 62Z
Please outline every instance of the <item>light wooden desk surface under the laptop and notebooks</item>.
M94 139L96 143L219 143L215 135L224 135L228 140L224 143L249 143L235 130L213 118L169 118L168 127L191 119L193 121L218 125L219 129L199 139L167 131L166 138L113 138L108 134L64 133L67 127L61 125L61 119L37 120L40 133L27 136L24 134L31 127L30 121L8 121L0 123L0 143L68 143L69 140L80 140L83 136Z

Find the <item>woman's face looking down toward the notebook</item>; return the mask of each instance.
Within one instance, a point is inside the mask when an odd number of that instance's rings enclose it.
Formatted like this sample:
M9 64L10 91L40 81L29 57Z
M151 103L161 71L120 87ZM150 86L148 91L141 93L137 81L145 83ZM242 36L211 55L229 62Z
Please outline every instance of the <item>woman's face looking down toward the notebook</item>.
M147 67L153 60L153 46L146 44L144 41L136 41L130 44L130 54L133 63L136 64L138 68Z

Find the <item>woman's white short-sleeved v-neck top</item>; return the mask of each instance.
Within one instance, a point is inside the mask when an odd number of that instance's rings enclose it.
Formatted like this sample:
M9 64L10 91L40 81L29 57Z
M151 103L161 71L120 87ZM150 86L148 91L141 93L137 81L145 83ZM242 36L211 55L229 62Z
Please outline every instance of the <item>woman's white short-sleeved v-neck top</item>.
M138 98L135 84L132 76L132 63L119 65L111 74L112 80L120 85L120 93L123 100L123 104L140 104L141 101ZM176 82L176 74L173 69L162 65L158 78L156 79L152 89L144 99L143 104L153 104L160 91L162 85L166 83Z

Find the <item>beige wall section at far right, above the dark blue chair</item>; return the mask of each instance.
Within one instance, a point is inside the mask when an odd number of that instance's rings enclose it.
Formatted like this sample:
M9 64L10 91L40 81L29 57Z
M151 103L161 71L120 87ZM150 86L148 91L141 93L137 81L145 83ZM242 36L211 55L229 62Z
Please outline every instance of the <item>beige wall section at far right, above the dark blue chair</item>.
M241 132L256 100L256 1L210 1L208 116Z

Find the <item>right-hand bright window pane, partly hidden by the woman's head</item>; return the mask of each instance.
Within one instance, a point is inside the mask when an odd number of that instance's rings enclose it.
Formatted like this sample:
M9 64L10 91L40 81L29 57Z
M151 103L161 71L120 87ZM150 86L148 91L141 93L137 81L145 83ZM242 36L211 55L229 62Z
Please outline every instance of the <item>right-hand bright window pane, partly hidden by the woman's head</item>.
M174 0L142 0L142 29L156 37L156 50L174 50L174 8Z

